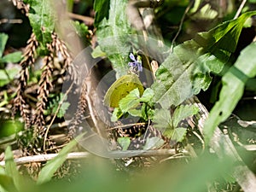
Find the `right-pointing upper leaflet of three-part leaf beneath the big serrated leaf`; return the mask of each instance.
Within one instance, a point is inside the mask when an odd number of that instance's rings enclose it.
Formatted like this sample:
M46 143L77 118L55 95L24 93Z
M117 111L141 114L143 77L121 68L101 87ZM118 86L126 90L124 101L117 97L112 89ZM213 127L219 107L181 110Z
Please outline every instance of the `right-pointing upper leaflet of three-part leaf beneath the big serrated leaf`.
M178 123L196 113L198 113L199 108L195 105L180 105L178 106L173 113L173 126L177 127Z

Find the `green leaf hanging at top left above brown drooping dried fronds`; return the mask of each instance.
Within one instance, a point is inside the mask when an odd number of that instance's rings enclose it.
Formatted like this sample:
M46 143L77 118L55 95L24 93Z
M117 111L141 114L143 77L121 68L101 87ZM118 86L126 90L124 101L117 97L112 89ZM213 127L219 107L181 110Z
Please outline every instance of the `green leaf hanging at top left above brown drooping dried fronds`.
M51 33L55 28L53 6L50 0L28 0L30 12L28 18L38 42L42 43L42 49L46 49L46 44L50 43Z

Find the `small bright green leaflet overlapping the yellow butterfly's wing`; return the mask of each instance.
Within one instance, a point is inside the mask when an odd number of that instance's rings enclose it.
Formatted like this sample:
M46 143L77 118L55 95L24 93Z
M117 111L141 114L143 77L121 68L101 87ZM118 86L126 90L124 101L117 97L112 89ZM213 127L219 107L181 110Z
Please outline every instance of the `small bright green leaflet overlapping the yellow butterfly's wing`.
M135 90L131 90L131 92L122 98L119 101L119 108L122 110L123 113L128 112L131 108L137 107L137 105L140 103L138 99L140 98L140 91L138 88Z

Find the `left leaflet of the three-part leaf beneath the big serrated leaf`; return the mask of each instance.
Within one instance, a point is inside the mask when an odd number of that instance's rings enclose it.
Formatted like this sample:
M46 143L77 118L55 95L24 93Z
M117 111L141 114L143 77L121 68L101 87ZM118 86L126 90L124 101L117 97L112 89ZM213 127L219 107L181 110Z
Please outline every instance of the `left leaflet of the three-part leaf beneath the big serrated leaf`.
M154 127L159 130L173 129L171 113L165 108L155 109L152 121L155 124Z

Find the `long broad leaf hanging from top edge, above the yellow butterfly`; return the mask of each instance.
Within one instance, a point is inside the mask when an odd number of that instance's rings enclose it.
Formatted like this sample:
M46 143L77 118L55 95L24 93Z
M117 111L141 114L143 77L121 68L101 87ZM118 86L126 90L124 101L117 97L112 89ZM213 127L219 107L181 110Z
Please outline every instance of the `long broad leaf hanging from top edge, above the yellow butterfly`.
M106 1L99 1L106 3ZM99 6L101 3L98 3ZM108 59L112 62L113 69L117 72L117 78L127 74L129 70L129 52L131 43L128 35L131 34L131 26L125 13L127 0L110 0L110 9L97 9L98 14L106 15L109 10L109 17L102 19L97 27L97 39L102 51L106 53Z

